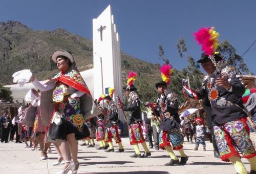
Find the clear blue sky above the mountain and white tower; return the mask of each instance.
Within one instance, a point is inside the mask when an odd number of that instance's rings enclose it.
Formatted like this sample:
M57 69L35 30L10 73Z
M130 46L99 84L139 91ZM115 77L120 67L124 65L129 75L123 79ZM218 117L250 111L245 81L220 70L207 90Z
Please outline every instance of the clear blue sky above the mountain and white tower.
M212 27L242 55L256 39L256 1L207 0L2 0L0 21L17 20L34 30L66 29L92 39L92 19L108 5L112 6L120 34L121 50L136 58L159 62L158 45L179 70L188 62L180 58L176 44L183 37L188 54L196 60L201 47L193 33ZM243 57L249 70L256 74L256 44Z

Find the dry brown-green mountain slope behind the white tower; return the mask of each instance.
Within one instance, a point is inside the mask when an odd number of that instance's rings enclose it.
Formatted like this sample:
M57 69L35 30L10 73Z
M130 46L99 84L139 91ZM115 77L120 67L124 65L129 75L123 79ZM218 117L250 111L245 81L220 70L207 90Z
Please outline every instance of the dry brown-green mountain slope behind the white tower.
M58 72L51 54L56 50L73 53L79 71L93 68L93 42L64 29L35 31L18 21L0 23L0 83L12 84L12 74L30 69L39 80ZM153 87L160 79L159 64L153 64L121 53L123 83L129 71Z

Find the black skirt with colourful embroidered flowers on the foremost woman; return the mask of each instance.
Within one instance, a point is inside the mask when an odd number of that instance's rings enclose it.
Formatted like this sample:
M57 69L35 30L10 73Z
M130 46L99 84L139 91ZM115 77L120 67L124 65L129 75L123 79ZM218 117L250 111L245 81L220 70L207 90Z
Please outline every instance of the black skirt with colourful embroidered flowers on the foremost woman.
M75 134L76 140L90 136L89 129L84 124L84 119L80 112L79 98L69 97L58 103L49 126L51 139L66 140L69 134Z

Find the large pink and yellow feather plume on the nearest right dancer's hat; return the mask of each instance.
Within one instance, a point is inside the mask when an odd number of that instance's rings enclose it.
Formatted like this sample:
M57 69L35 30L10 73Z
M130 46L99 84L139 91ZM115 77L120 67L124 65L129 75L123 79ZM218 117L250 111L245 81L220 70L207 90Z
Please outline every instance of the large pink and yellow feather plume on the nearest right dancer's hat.
M214 27L201 28L194 35L198 45L202 45L202 51L204 51L206 55L218 54L216 50L219 46L219 33L214 30Z

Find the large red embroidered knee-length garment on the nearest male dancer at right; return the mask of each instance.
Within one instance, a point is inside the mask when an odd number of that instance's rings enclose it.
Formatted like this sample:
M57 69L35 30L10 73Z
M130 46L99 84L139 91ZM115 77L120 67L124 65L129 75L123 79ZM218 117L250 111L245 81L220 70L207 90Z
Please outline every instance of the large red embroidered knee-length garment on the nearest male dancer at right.
M228 162L228 158L232 156L240 157L236 147L241 151L244 158L256 156L249 138L246 117L227 122L222 126L214 126L214 134L222 161Z

